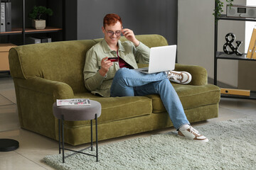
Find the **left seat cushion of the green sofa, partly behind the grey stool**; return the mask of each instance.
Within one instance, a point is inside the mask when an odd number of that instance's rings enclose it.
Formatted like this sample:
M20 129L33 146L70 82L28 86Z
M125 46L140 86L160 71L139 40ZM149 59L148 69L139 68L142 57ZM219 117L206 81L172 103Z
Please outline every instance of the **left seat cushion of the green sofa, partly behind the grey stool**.
M75 94L75 98L90 98L101 103L102 113L98 123L133 118L152 113L152 102L146 96L102 98L92 94ZM68 122L70 126L87 125L90 121Z

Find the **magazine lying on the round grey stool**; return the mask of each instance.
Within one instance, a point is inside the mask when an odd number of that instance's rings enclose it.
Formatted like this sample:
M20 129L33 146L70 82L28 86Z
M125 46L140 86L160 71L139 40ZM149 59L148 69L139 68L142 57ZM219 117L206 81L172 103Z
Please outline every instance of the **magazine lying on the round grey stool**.
M81 106L90 105L89 98L57 99L57 106Z

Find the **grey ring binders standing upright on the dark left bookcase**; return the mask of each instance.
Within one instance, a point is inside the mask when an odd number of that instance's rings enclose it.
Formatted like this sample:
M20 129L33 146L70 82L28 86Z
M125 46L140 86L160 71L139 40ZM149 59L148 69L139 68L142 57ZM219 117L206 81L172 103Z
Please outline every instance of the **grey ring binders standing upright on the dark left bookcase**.
M11 0L1 0L0 32L11 31Z

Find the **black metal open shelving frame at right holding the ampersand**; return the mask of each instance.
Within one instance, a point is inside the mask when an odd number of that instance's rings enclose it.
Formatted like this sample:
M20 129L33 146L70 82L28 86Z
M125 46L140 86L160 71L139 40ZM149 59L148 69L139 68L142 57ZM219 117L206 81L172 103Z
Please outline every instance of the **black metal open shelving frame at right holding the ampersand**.
M216 8L216 3L215 3ZM217 19L217 21L216 21ZM217 67L218 60L245 60L255 62L254 59L246 58L246 53L243 53L242 56L238 55L227 55L224 52L218 52L218 21L228 20L228 21L255 21L256 18L236 18L228 17L225 14L222 14L220 17L215 18L215 33L214 33L214 84L217 86ZM250 96L237 96L237 95L228 95L222 94L223 98L242 98L242 99L256 99L256 91L250 91Z

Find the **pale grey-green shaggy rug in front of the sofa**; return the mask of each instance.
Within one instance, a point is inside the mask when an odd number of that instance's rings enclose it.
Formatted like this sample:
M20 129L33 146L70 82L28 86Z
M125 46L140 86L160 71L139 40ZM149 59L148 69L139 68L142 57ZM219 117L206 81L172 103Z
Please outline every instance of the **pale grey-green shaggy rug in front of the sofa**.
M169 132L99 147L95 157L62 154L43 158L55 169L256 169L256 120L236 119L196 127L208 137L201 144Z

